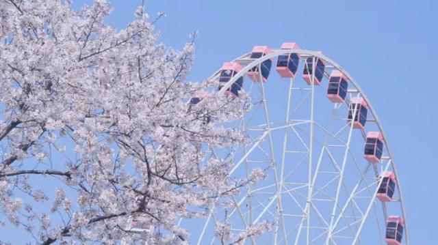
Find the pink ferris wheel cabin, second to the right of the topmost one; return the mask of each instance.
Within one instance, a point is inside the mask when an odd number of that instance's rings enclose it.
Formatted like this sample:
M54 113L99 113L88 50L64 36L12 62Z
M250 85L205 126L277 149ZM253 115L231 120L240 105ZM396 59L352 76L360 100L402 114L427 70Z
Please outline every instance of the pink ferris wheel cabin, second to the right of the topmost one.
M348 90L348 79L339 70L333 70L329 78L327 98L333 103L343 103Z

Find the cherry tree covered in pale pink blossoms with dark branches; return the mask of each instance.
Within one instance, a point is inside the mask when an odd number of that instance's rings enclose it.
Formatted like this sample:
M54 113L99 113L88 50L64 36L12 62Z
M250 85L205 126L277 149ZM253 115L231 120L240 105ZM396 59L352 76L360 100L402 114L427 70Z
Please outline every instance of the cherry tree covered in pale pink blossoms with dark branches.
M190 103L217 86L185 81L193 40L181 51L159 43L163 14L150 20L142 5L120 31L110 12L104 0L79 11L0 0L0 231L15 225L31 244L185 244L178 218L203 217L263 177L232 179L231 162L206 156L246 143L223 126L245 113L245 94ZM233 242L224 224L216 235ZM234 242L268 228L250 229Z

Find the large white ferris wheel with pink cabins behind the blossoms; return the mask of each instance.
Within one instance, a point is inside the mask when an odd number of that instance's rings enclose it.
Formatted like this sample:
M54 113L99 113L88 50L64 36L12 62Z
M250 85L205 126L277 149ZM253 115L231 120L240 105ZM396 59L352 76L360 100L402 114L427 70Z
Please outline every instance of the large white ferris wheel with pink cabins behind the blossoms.
M251 106L233 122L250 142L209 157L233 161L231 177L260 168L266 178L218 201L207 218L180 220L190 244L221 244L218 222L237 235L261 221L272 229L242 244L409 244L389 143L346 70L320 51L283 43L255 46L209 79L223 96L246 93Z

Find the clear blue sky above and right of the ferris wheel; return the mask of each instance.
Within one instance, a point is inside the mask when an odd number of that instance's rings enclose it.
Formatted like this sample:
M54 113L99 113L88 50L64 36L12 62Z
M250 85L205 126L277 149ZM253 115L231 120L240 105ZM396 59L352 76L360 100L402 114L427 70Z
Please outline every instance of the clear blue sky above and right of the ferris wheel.
M75 0L75 8L90 0ZM112 0L118 29L141 0ZM197 30L190 80L201 81L254 45L297 42L322 50L359 83L398 165L412 244L435 244L438 1L147 0L162 42L181 48ZM437 90L436 90L437 89Z

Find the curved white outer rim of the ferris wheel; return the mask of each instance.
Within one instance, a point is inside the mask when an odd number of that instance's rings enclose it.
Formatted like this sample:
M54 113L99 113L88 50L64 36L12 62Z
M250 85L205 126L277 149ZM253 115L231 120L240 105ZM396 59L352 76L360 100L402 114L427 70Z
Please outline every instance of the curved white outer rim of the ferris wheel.
M303 55L305 57L315 57L318 59L322 59L322 60L326 61L327 63L331 64L331 66L333 66L333 68L335 68L336 70L339 70L340 72L342 72L346 76L346 78L348 78L348 81L355 87L355 89L357 90L357 93L359 93L361 98L363 98L367 102L368 108L369 108L370 112L372 113L372 116L374 117L373 122L376 124L376 126L378 127L378 130L381 132L381 134L383 134L383 138L385 139L385 149L387 149L387 155L389 157L386 160L389 160L389 162L391 163L391 167L394 171L394 174L396 175L396 179L398 180L396 182L396 185L397 185L398 194L399 194L398 202L400 203L400 209L402 212L401 216L404 218L404 240L407 242L407 245L409 245L407 218L406 218L406 212L405 212L405 207L404 207L404 201L403 201L403 197L402 197L400 178L398 177L398 171L396 169L396 164L394 162L393 154L389 148L387 136L385 134L385 131L383 130L383 126L381 125L381 121L380 121L380 119L378 119L378 115L377 115L376 111L374 110L374 107L372 106L372 103L370 102L370 100L368 100L368 97L363 92L363 89L361 89L361 87L359 87L359 84L355 81L355 79L344 68L342 68L342 66L340 66L338 63L333 61L333 59L330 59L326 55L323 55L320 51L309 51L307 49L301 49L301 48L272 49L272 53L263 55L262 57L259 57L257 59L252 59L253 61L250 61L249 63L247 63L246 66L242 66L242 70L240 70L233 77L231 77L231 79L227 83L224 83L222 88L219 91L217 91L216 93L218 93L219 95L223 94L225 91L227 91L227 89L229 89L229 87L231 87L231 85L233 85L233 83L235 83L235 81L237 81L238 78L244 77L246 75L246 72L248 72L251 68L253 68L255 66L259 66L261 63L263 63L263 61L266 61L268 59L272 59L274 57L278 57L279 55L286 55L286 54L292 54L292 53L296 53L298 55ZM232 62L238 62L239 60L244 59L244 57L248 57L248 55L250 55L250 53L245 53L244 55L241 55L240 57L233 59ZM220 73L220 70L216 71L207 80L211 80L211 79L215 78L216 76L218 76L219 73ZM264 82L261 81L261 82L255 82L255 83L264 83ZM203 103L203 101L201 100L200 103ZM385 205L385 203L384 203L384 205Z

